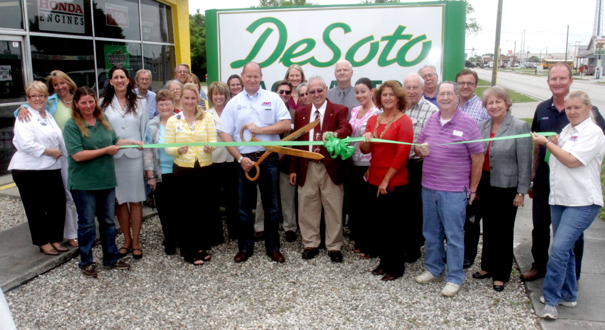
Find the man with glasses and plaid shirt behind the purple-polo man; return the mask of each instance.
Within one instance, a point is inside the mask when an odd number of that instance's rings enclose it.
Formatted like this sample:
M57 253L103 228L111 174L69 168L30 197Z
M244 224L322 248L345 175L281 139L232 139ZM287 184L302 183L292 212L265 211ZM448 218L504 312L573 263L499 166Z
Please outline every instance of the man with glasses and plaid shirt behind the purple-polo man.
M475 122L479 123L489 119L489 115L483 107L483 102L475 94L477 82L479 78L475 71L464 69L456 74L456 82L460 91L458 108L463 113L471 116ZM477 243L479 243L480 228L482 214L479 212L480 202L468 205L466 207L466 220L464 223L464 268L469 268L473 265L475 257L477 257Z

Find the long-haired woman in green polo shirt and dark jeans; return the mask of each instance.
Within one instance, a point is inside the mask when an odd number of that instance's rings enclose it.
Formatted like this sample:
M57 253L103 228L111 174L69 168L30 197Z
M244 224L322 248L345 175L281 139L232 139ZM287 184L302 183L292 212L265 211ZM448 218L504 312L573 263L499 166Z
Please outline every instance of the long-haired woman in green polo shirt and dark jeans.
M117 137L89 87L77 88L74 93L71 118L65 123L63 136L69 156L67 187L76 204L78 216L78 266L84 276L97 277L92 251L94 216L97 216L103 246L103 266L128 269L130 265L119 260L120 253L116 246L114 202L117 182L113 155L120 145L136 144L142 147L143 142Z

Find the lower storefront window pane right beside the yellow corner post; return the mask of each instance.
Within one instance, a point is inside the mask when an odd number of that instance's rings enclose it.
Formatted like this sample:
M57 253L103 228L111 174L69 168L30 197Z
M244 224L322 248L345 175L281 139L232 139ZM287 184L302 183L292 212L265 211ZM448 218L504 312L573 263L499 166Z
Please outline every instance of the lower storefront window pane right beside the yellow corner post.
M162 89L167 81L174 79L174 46L143 44L145 68L151 71L152 91Z

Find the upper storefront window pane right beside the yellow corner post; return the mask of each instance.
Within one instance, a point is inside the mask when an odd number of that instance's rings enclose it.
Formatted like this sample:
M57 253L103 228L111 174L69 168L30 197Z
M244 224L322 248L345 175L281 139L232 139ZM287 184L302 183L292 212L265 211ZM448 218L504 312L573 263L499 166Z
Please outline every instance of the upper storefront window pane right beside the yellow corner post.
M143 41L173 42L172 12L168 5L141 0Z

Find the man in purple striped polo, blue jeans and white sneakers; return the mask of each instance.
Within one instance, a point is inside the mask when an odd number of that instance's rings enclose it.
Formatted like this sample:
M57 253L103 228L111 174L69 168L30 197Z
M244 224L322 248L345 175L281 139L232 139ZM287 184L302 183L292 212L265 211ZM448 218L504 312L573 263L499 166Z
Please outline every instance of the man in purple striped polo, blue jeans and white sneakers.
M483 166L483 144L440 145L481 139L472 117L457 107L458 85L444 81L437 86L440 111L431 115L417 139L414 151L424 157L422 165L422 234L427 240L424 264L427 270L418 283L446 280L442 295L456 295L464 280L464 220L466 203L472 204ZM445 276L445 246L448 240Z

